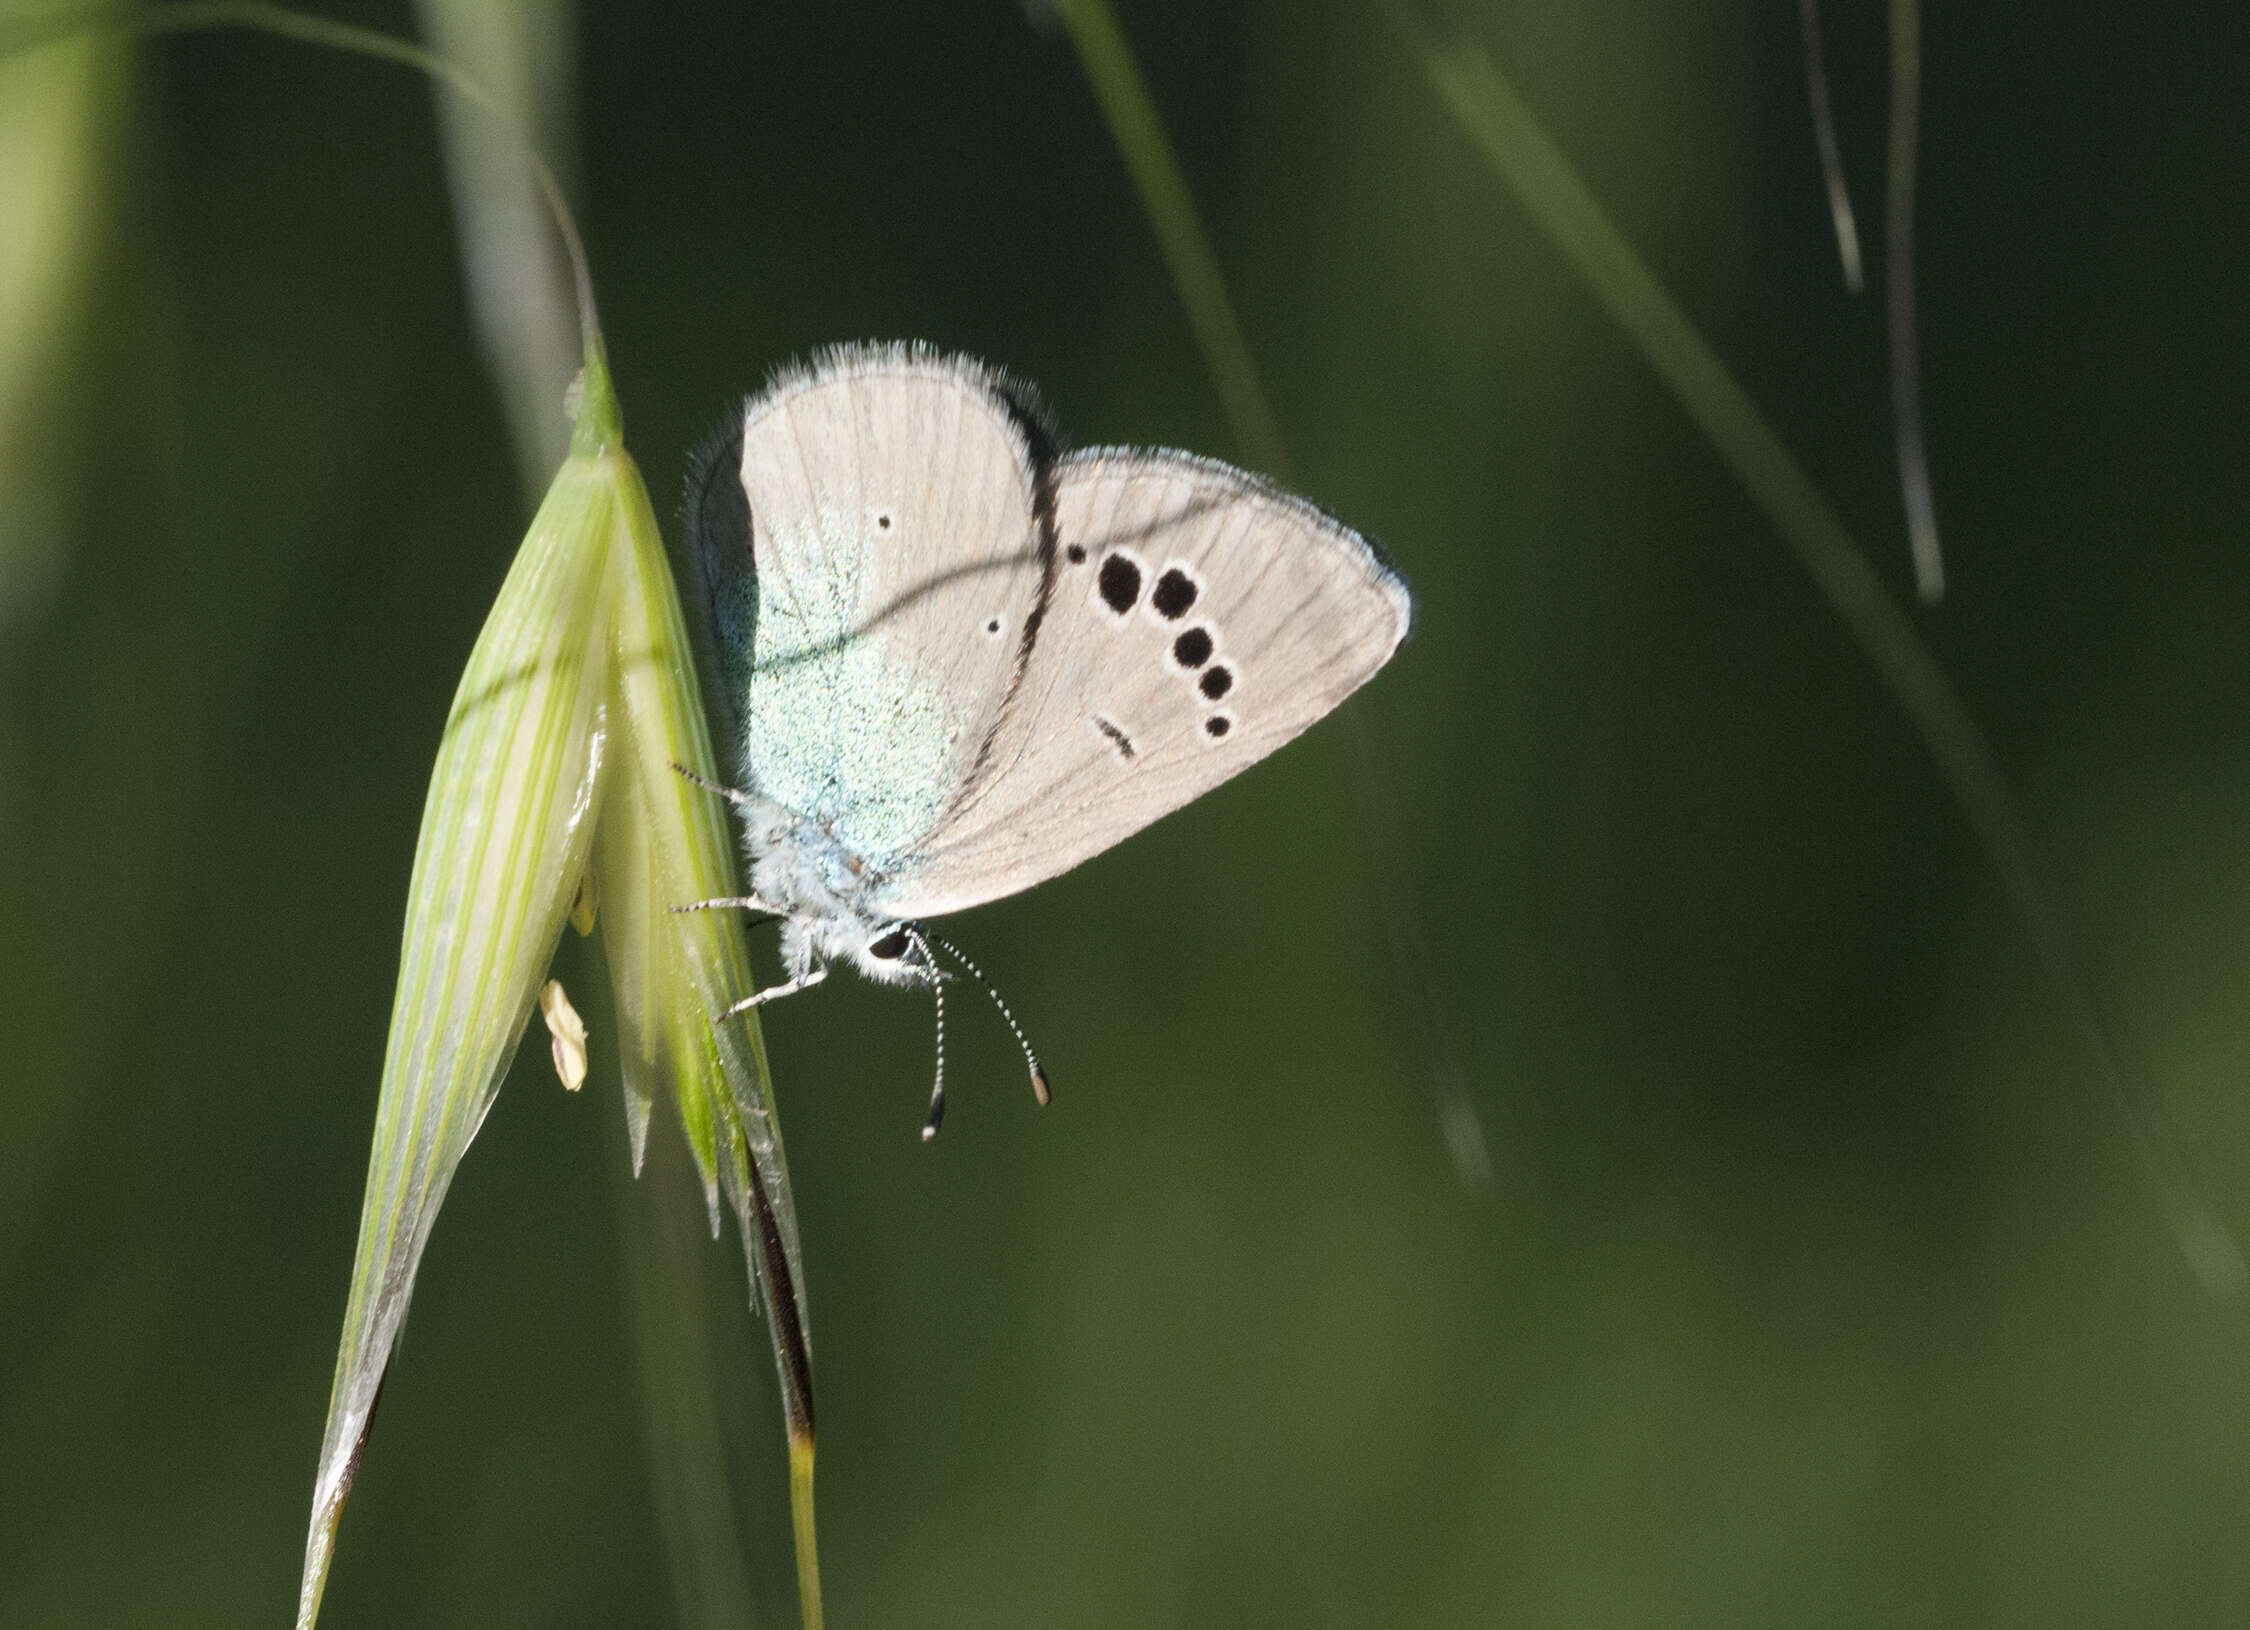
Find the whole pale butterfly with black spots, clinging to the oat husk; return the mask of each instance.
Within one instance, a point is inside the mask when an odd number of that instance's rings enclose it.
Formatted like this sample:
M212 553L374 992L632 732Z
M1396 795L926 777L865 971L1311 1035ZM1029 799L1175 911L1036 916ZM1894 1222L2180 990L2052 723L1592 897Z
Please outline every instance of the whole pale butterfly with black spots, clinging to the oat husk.
M778 374L702 453L688 574L783 984L835 964L938 997L925 919L1069 871L1332 711L1413 599L1357 531L1170 450L1062 453L1024 383L918 344Z

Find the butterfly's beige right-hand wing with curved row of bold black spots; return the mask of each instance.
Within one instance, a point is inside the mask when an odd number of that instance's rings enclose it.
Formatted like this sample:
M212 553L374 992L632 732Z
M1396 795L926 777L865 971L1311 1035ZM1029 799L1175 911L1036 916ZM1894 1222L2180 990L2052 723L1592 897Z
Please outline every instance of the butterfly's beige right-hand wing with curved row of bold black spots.
M1055 471L1055 572L1028 666L896 916L994 901L1256 763L1366 684L1411 619L1354 531L1226 464L1096 448Z

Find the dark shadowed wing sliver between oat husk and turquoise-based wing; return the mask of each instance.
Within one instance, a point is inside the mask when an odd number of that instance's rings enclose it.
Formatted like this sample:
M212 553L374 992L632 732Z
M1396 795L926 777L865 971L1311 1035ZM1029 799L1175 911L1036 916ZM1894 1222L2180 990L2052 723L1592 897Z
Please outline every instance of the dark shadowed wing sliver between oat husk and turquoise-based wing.
M686 585L682 610L704 714L724 774L742 774L742 700L758 626L758 567L749 552L749 495L742 491L742 423L736 408L688 459L673 570Z

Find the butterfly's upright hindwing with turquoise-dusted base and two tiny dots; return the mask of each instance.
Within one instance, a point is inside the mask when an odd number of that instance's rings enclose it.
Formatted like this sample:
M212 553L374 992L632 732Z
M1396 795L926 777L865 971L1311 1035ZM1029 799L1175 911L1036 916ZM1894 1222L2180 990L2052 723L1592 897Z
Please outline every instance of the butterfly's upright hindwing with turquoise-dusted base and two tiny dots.
M972 362L860 349L742 426L754 792L868 876L909 865L990 756L1048 592L1040 432Z

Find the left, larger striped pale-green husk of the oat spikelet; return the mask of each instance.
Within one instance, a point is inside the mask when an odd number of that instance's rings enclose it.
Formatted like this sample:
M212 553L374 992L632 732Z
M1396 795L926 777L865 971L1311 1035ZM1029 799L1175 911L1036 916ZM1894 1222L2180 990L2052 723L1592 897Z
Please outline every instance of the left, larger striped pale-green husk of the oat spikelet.
M320 1612L360 1450L446 1186L569 916L603 795L616 471L574 453L468 657L430 774L297 1623Z

